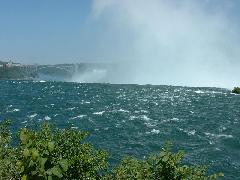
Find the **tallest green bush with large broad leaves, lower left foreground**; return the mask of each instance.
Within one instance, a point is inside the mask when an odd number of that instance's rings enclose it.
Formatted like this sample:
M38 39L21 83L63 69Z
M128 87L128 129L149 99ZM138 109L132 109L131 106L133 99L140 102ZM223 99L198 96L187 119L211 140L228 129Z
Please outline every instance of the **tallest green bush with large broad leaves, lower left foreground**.
M82 143L86 136L71 129L52 131L48 124L40 131L22 129L18 158L21 177L97 179L107 168L107 154Z

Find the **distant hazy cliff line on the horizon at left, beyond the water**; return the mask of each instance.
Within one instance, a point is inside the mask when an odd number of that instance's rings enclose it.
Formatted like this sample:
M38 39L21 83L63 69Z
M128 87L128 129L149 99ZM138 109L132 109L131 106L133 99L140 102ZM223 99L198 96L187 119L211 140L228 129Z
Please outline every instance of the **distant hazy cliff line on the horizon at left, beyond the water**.
M0 79L41 79L50 81L71 81L75 76L83 76L98 69L105 69L103 64L56 64L22 65L0 61ZM84 81L85 82L85 81Z

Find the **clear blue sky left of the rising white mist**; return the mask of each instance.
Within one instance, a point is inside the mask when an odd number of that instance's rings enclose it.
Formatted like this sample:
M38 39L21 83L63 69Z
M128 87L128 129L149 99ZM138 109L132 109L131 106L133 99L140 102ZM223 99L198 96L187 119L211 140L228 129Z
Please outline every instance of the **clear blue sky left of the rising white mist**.
M1 0L0 59L12 58L23 63L81 59L81 36L90 3L85 0Z

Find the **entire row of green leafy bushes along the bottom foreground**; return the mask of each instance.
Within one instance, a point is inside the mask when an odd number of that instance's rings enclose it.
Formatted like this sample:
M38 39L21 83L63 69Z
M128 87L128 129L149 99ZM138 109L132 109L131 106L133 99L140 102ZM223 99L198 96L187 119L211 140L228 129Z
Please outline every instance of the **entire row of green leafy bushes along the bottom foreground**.
M9 121L0 124L1 179L217 179L223 174L206 175L205 167L181 165L184 153L163 148L143 160L124 158L112 170L108 154L83 142L88 135L72 129L52 130L49 124L38 131L23 128L19 144L12 147Z

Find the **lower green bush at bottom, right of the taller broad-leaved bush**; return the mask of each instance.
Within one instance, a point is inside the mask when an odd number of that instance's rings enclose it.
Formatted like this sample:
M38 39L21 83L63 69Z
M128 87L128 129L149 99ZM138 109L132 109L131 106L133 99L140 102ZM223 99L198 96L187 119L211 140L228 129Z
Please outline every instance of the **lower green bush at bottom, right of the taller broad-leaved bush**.
M170 150L170 147L167 146L159 154L150 155L144 160L127 157L106 179L210 180L223 176L222 173L207 176L205 167L182 166L180 161L184 157L184 153L182 151L172 153Z

